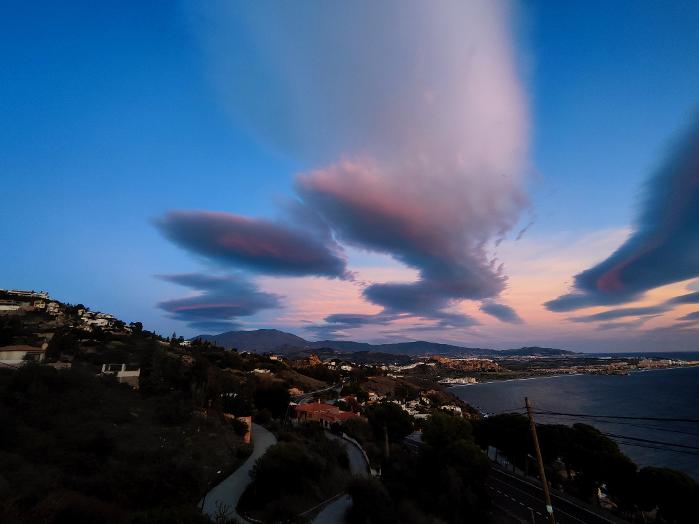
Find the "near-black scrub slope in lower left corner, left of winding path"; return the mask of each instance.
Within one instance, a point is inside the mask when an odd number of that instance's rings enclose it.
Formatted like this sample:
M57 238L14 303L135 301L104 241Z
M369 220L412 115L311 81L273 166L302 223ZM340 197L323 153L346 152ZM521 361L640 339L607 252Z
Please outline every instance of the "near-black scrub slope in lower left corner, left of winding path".
M218 420L192 417L191 401L171 398L144 398L79 368L0 373L4 521L202 522L198 499L246 447Z

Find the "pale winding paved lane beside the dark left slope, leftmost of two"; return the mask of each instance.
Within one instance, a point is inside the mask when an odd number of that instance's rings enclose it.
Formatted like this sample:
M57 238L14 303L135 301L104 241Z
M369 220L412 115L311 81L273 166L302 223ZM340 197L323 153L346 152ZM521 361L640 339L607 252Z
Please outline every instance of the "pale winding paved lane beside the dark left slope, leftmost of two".
M219 508L224 508L226 517L234 518L241 522L245 519L238 515L235 510L240 500L240 496L245 491L245 488L250 484L250 471L255 465L258 458L265 454L267 448L276 444L276 437L258 424L252 425L253 450L252 454L243 464L236 469L231 475L226 477L209 491L200 504L202 512L214 518L219 514Z

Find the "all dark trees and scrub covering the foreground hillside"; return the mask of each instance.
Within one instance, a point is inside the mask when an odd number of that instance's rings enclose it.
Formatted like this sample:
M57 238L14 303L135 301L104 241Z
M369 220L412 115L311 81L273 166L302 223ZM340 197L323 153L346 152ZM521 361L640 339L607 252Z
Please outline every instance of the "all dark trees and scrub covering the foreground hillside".
M289 365L205 341L190 347L175 333L163 339L139 323L73 327L84 309L65 306L62 324L43 313L0 317L0 344L48 341L47 360L72 366L0 370L3 522L207 522L198 501L249 453L243 443L249 428L234 417L250 415L279 439L258 460L238 508L265 522L302 520L345 490L353 499L351 523L487 522L483 449L494 446L511 463L535 471L525 417L480 419L448 393L423 387L420 377L394 379L371 367L341 374L317 357ZM53 336L43 336L42 323ZM137 390L100 373L103 364L122 363L140 369ZM313 391L340 377L349 398L339 406L366 418L333 429L361 443L381 480L351 479L344 448L319 425L281 429L290 388ZM369 392L416 400L432 415L414 419L395 402L362 405ZM439 411L444 405L461 407L466 418ZM407 445L416 427L422 445ZM628 518L644 511L645 522L695 520L699 488L687 475L639 471L614 441L585 424L542 424L538 431L555 487L591 502L604 493Z

